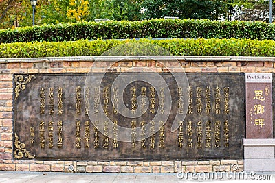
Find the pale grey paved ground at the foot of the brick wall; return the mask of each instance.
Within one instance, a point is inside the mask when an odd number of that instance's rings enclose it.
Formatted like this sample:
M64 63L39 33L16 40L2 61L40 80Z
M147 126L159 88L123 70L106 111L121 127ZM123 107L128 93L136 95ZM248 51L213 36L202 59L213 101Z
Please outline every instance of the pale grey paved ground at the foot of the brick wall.
M184 175L178 178L175 173L136 174L136 173L49 173L49 172L11 172L0 171L0 182L268 182L274 183L275 173L256 173L248 178L236 178L235 175L217 174L214 179L207 174ZM204 178L203 178L204 177Z

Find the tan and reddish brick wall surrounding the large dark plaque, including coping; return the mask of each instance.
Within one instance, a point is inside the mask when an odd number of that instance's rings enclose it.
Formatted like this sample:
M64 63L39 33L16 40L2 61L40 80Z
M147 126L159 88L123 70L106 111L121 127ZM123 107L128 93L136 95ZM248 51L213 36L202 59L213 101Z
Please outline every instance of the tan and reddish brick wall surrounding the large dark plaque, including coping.
M177 59L179 62L175 61ZM96 60L96 61L95 61ZM0 170L75 172L174 173L178 171L243 171L243 160L208 161L36 161L12 158L12 78L17 73L88 73L139 71L182 71L186 73L274 73L275 58L248 57L168 57L161 62L140 58L27 58L0 59ZM111 69L110 61L118 61ZM93 68L91 66L94 64ZM245 121L243 121L245 123ZM238 169L232 168L232 165Z

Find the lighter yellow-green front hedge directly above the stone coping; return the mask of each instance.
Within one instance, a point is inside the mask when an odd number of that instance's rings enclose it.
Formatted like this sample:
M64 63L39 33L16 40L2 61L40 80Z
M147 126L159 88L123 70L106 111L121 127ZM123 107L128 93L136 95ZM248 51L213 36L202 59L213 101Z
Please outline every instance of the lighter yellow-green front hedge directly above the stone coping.
M126 46L124 44L127 44ZM17 42L0 44L0 58L59 56L167 55L173 56L275 56L275 41L249 39L78 40L69 42ZM119 46L120 45L120 46ZM124 46L122 46L124 45Z

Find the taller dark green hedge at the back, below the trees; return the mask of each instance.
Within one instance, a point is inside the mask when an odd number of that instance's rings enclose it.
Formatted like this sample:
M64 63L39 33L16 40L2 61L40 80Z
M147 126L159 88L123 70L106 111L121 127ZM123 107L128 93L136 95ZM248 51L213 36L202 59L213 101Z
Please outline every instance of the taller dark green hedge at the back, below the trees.
M275 40L275 25L250 21L149 20L60 23L0 30L0 43L129 38L249 38Z

